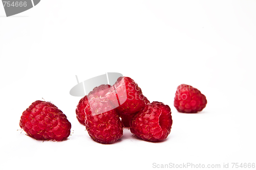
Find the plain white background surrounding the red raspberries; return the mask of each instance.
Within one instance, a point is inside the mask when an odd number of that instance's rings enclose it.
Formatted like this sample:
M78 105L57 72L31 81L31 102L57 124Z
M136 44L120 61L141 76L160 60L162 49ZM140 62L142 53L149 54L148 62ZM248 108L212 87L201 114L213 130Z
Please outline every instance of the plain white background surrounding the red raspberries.
M5 17L1 4L0 168L256 163L255 9L255 1L42 0ZM69 91L75 75L83 81L105 72L131 77L148 100L170 106L165 141L139 140L128 129L111 145L89 137L76 119L80 98ZM182 83L206 95L202 112L177 112ZM42 142L17 131L22 112L42 98L68 116L70 140Z

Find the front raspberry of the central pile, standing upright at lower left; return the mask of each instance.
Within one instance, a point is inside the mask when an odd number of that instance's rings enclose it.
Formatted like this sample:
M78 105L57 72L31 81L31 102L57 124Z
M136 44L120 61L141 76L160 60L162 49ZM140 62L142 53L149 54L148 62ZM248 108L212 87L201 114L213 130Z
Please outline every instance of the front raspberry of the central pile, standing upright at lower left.
M92 98L86 106L86 129L99 143L112 144L123 135L123 125L108 98Z

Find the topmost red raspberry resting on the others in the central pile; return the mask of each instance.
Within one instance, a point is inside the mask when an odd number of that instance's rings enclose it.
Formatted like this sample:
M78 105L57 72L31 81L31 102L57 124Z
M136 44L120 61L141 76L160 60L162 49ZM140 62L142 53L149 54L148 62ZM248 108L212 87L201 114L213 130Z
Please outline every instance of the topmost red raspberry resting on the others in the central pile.
M110 91L106 93L118 112L134 114L145 106L145 96L138 84L129 77L119 77Z

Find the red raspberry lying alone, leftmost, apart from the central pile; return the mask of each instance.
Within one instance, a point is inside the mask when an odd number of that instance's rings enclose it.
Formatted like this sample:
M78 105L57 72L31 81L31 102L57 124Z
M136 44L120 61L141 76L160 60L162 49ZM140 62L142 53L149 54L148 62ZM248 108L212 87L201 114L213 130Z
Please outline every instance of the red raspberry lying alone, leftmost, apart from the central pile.
M28 136L41 140L61 141L70 135L71 123L54 104L35 101L20 117L19 126Z

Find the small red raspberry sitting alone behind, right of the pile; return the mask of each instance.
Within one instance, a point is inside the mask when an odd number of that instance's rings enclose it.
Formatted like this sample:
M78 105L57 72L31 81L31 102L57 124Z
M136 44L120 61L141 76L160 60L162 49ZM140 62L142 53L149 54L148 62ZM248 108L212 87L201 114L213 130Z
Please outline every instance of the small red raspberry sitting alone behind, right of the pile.
M174 98L174 107L182 113L197 113L202 111L207 104L205 95L198 89L181 84L177 87Z

